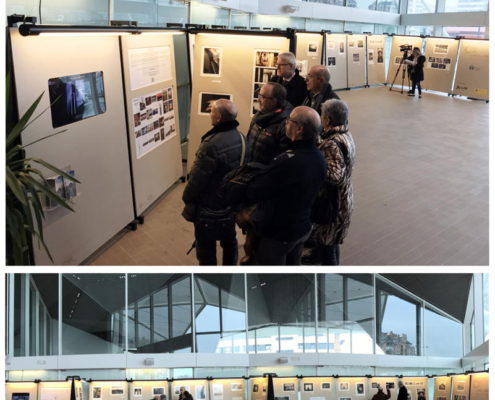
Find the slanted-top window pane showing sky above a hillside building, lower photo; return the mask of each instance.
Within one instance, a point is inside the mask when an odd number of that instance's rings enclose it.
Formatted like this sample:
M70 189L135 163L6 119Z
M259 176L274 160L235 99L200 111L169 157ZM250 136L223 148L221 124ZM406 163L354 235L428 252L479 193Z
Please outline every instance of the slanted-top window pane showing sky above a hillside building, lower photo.
M382 354L418 355L419 304L377 281L377 335Z

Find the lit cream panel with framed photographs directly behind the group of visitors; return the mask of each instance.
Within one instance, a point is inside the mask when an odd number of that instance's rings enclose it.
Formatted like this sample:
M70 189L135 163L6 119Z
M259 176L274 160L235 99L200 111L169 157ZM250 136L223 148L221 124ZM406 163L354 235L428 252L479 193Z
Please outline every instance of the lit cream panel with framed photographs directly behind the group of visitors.
M201 101L214 98L213 95L230 96L237 105L239 130L246 134L252 118L252 99L255 90L256 73L263 81L275 73L275 53L289 51L289 39L277 36L255 36L236 34L207 34L191 35L194 40L191 116L189 125L188 170L194 161L194 155L199 147L201 136L211 129L211 120L207 112L201 112ZM205 49L217 49L213 62L205 64L207 55ZM221 49L221 50L218 50ZM263 59L257 59L263 56ZM218 74L204 74L208 64L221 65ZM265 66L256 66L266 64ZM215 68L213 68L215 70ZM201 96L201 97L200 97ZM205 110L206 111L206 110Z

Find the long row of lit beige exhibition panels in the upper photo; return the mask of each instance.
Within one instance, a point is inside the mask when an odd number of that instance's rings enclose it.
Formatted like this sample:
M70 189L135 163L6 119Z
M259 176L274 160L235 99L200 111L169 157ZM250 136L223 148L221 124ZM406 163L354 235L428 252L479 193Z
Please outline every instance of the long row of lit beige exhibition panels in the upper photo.
M190 66L192 83L189 163L211 126L212 101L233 100L240 130L247 131L261 86L277 72L280 52L296 52L303 76L313 65L326 65L335 89L386 80L384 35L290 29L148 33L24 37L10 30L19 115L47 92L40 109L49 112L22 133L24 144L35 142L26 148L27 156L81 182L47 175L75 210L49 199L44 204L44 237L55 264L80 264L129 223L142 222L146 210L182 177L174 34L186 35L190 43L189 60L181 62ZM400 65L399 45L421 47L422 41L394 36L389 82ZM488 41L427 38L426 49L426 89L451 93L455 79L453 93L488 99ZM54 135L61 130L66 132ZM50 264L36 241L33 247L35 263Z

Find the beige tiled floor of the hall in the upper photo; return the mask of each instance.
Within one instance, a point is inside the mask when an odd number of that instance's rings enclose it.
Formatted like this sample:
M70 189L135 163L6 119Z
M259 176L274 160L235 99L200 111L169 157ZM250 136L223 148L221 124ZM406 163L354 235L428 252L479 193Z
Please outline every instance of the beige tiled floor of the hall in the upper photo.
M340 92L357 146L345 265L488 264L488 105L377 87ZM91 262L195 265L184 184ZM240 242L242 237L239 235Z

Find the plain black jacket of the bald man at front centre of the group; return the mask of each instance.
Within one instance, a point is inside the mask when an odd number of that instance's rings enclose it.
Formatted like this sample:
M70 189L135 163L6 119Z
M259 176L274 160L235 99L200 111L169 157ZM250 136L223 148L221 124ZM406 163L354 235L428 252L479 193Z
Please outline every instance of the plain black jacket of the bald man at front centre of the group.
M282 241L307 234L311 205L325 175L325 160L314 143L290 142L289 150L248 185L247 197L257 203L253 215L257 232Z

